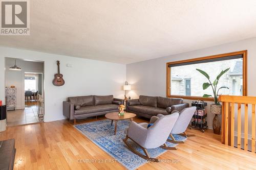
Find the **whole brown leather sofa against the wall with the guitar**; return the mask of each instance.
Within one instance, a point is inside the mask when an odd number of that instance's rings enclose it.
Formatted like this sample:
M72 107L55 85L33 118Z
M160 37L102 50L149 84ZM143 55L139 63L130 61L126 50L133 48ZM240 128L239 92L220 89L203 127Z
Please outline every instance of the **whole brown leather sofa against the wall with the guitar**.
M63 102L63 115L74 120L75 124L76 119L118 112L119 105L123 105L123 100L113 95L70 97L67 102Z

